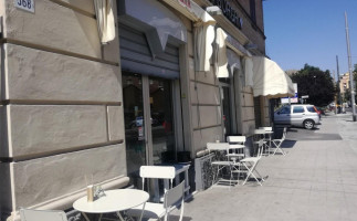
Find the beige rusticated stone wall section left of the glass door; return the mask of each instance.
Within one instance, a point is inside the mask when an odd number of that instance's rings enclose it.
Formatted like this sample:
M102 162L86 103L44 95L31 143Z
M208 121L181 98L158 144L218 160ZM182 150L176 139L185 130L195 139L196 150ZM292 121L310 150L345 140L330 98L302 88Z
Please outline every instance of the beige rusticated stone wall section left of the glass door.
M126 185L118 40L101 45L93 1L1 1L0 15L1 220Z

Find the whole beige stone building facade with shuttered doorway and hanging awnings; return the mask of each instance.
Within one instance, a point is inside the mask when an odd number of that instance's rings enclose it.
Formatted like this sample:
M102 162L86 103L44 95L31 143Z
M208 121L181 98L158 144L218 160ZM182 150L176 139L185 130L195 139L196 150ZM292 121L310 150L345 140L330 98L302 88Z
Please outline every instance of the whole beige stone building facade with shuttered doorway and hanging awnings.
M1 219L69 210L91 183L138 186L141 165L270 125L249 74L265 55L262 0L108 2L106 44L92 1L0 2Z

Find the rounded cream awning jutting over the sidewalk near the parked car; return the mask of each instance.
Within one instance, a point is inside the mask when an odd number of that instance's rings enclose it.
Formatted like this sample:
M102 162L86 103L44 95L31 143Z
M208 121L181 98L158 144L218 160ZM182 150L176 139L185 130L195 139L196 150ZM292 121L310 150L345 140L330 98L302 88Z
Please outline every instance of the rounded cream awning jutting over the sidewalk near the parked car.
M269 98L294 96L292 80L272 60L253 56L253 95Z

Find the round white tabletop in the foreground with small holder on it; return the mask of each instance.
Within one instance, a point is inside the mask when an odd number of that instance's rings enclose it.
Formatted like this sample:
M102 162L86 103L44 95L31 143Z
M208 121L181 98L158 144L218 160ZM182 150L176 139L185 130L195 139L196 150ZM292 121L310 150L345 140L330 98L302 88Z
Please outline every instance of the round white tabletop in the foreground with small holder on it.
M149 193L136 189L106 190L105 196L88 202L87 196L77 199L73 208L87 213L106 213L128 210L148 201Z

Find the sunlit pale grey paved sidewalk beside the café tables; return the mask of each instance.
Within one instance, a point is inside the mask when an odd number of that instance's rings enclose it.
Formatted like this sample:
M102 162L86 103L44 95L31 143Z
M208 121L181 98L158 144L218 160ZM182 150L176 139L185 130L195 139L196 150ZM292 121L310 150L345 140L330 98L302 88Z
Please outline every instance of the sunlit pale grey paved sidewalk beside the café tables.
M356 220L357 123L350 114L330 113L318 127L292 128L287 155L262 159L260 172L269 175L263 187L252 181L198 192L185 204L183 220Z

